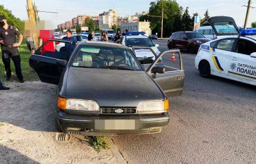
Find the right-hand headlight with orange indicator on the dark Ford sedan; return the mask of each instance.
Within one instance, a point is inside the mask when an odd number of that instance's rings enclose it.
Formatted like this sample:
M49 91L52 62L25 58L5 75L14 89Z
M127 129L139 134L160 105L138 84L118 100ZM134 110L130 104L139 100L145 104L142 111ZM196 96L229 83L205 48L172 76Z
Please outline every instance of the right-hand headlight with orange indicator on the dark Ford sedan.
M143 101L139 102L137 107L138 113L163 113L167 110L169 110L168 100Z

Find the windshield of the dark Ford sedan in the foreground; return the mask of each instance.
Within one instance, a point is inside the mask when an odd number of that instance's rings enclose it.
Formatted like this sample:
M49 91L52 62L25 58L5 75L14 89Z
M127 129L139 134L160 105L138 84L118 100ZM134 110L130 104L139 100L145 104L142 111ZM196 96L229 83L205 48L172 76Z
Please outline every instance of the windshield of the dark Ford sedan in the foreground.
M80 46L72 67L141 71L136 57L130 49Z

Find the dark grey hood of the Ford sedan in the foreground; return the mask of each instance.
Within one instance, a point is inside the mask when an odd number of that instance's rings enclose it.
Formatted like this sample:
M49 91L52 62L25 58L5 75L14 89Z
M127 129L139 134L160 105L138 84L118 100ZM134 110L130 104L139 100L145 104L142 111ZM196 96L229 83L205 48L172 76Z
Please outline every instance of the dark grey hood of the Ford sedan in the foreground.
M66 97L94 100L101 107L137 107L164 98L144 71L75 67L68 71Z

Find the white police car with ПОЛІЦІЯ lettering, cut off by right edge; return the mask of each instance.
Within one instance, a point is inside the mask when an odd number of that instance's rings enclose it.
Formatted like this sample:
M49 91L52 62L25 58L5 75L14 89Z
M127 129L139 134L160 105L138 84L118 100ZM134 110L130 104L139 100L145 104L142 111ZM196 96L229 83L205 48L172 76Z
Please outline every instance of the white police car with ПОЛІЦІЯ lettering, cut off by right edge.
M200 46L195 66L202 77L216 75L256 85L256 30L226 36Z

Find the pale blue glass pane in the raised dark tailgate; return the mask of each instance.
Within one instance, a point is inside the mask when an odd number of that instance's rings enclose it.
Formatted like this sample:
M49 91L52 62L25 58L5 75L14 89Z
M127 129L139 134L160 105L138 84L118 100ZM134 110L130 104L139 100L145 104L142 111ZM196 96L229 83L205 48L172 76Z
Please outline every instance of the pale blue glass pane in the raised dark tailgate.
M236 27L229 22L217 22L214 23L214 27L216 28L217 33L220 34L239 34Z

